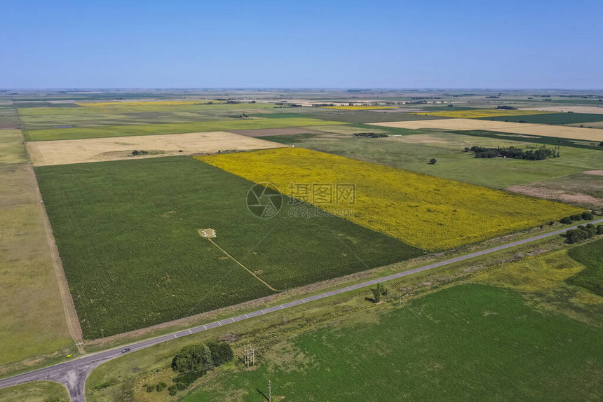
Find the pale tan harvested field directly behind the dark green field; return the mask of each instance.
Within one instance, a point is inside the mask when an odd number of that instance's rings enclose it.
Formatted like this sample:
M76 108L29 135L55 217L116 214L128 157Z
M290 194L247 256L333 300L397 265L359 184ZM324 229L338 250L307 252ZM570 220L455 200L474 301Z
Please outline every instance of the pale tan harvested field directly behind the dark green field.
M282 144L231 132L189 132L186 134L144 135L27 143L34 166L67 165L70 163L100 162L128 158L217 153L217 151L247 151L279 148ZM147 151L148 155L132 156L132 151ZM182 150L182 153L179 152Z

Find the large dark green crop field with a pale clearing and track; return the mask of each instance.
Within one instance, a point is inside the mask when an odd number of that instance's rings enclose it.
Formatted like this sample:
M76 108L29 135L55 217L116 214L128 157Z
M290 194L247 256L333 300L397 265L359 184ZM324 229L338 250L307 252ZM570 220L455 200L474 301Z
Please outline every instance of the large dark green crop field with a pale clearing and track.
M191 158L36 168L85 338L188 317L421 254L334 216L252 215L252 183Z

